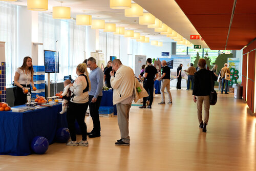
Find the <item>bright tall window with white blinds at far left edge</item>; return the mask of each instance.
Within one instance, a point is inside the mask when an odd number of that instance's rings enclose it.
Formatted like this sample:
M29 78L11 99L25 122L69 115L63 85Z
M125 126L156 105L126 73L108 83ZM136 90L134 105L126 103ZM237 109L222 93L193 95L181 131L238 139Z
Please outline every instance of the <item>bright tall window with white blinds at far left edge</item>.
M6 86L11 86L17 68L17 6L0 2L0 41L5 41Z

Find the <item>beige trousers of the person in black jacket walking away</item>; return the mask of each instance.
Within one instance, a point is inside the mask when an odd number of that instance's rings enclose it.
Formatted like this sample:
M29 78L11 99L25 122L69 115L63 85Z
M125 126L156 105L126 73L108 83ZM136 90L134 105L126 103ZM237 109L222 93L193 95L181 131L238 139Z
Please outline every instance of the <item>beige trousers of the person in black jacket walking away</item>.
M204 122L208 124L209 109L210 109L209 96L197 96L197 117L198 117L199 123L201 123L203 121L202 120L203 102L204 102Z

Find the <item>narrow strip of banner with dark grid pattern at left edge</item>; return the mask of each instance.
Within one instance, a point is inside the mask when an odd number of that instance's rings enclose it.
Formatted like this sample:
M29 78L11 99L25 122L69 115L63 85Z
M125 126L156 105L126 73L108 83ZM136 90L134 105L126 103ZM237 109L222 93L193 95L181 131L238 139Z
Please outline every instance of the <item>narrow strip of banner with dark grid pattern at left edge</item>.
M5 65L5 42L0 41L0 98L6 102L6 65Z

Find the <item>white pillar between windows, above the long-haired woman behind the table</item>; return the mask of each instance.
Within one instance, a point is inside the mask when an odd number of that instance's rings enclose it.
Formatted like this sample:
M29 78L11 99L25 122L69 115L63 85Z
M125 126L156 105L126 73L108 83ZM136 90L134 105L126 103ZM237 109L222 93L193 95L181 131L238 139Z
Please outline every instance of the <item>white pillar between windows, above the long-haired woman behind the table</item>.
M26 6L17 6L17 66L22 66L23 58L31 56L31 11ZM32 58L33 60L33 58Z

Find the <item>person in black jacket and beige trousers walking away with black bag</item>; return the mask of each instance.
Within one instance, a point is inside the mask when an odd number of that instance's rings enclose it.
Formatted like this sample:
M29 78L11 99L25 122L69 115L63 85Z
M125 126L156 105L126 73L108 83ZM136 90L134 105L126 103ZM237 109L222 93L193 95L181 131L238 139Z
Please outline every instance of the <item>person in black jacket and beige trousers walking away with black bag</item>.
M203 132L206 132L206 125L209 120L209 95L213 84L211 84L210 77L212 77L213 81L217 80L214 72L205 69L206 61L205 59L198 60L198 67L200 70L194 75L194 89L193 89L193 97L194 102L197 102L197 116L198 121L200 123L199 127L201 127ZM204 102L204 121L202 120L202 107Z

